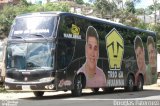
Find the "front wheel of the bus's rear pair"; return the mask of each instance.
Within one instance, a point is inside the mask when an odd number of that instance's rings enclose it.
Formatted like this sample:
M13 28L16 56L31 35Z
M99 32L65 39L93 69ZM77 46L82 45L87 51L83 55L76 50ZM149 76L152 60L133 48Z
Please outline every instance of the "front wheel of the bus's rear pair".
M125 87L125 90L128 92L132 92L134 90L134 78L132 75L128 76L127 86Z

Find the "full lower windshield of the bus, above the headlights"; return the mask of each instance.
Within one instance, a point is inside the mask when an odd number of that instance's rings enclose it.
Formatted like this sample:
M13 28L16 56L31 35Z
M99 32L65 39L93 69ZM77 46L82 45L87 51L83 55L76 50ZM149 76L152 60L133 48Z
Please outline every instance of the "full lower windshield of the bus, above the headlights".
M7 48L7 68L21 70L53 68L53 43L18 43Z

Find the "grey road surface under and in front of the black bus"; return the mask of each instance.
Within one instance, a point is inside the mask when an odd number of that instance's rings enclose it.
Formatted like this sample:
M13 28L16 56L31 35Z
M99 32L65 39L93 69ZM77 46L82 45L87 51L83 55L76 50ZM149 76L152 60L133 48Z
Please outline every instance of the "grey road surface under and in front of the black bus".
M160 106L160 87L147 86L141 92L116 89L106 94L85 90L81 97L72 97L70 92L46 92L40 98L32 93L5 93L0 99L0 106Z

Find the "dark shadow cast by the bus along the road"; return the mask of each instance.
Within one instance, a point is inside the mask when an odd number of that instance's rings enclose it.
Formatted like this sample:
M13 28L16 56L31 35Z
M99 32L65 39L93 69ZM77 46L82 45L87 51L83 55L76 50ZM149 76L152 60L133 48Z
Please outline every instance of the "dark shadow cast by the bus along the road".
M99 91L98 93L93 92L84 92L80 97L73 97L71 93L62 93L56 95L44 95L43 97L27 97L20 98L21 100L49 100L49 99L70 99L70 98L79 98L79 99L135 99L135 98L145 98L150 96L160 96L160 90L143 90L135 92L126 92L123 89L115 90L112 93L104 93Z

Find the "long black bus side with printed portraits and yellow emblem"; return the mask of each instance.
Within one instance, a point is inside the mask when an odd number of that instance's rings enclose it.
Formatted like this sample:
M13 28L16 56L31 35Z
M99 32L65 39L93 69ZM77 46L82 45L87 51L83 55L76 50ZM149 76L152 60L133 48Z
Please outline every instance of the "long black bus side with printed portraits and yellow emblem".
M93 92L99 88L112 92L116 87L141 91L143 85L156 83L154 32L71 13L61 16L59 28L58 54L63 54L64 61L58 61L57 65L62 65L59 67L66 74L65 79L59 79L70 80L76 96L81 95L83 88ZM68 48L73 51L69 53L71 61L67 59Z

